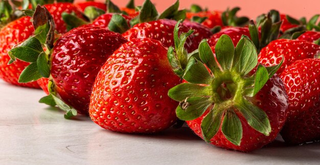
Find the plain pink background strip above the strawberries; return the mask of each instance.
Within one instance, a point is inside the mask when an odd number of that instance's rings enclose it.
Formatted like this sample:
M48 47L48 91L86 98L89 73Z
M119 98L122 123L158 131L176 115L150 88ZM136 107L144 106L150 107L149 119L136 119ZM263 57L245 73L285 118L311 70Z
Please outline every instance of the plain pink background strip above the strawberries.
M82 0L80 0L82 1ZM97 0L104 2L104 0ZM172 5L176 0L151 0L158 11L163 11ZM113 0L113 3L119 7L124 7L128 0ZM141 5L144 0L135 0L136 5ZM239 6L241 11L239 15L256 18L261 13L266 13L270 9L277 9L281 13L289 14L296 18L306 16L310 18L312 15L320 13L319 0L180 0L180 8L189 8L191 4L199 4L208 7L211 10L225 10L227 7Z

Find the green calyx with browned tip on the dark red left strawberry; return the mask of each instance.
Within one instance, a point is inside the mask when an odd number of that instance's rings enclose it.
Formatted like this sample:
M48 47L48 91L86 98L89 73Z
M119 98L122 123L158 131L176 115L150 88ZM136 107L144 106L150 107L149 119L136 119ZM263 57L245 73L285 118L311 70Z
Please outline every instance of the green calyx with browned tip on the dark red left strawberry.
M9 64L13 63L16 59L30 63L22 70L18 80L19 83L49 78L48 89L50 94L40 99L39 102L50 106L57 105L61 110L65 111L65 118L70 119L72 116L77 115L77 111L59 98L50 76L50 55L55 41L55 24L47 8L37 6L33 14L33 26L35 28L34 35L24 42L15 45L8 52L11 58Z

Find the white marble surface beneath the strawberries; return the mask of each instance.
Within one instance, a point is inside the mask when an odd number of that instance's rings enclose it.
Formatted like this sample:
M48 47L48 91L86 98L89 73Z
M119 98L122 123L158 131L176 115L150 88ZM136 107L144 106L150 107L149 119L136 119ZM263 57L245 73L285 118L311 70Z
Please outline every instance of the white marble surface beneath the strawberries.
M0 81L0 164L320 164L320 143L275 142L251 153L204 143L187 127L155 135L104 130L37 101L41 90Z

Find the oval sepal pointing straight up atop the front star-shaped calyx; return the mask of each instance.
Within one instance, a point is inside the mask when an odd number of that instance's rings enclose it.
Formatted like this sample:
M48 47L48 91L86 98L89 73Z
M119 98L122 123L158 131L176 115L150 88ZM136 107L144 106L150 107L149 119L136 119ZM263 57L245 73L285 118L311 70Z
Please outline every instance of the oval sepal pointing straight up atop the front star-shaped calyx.
M234 58L235 47L231 38L224 34L217 41L216 57L223 70L230 70Z

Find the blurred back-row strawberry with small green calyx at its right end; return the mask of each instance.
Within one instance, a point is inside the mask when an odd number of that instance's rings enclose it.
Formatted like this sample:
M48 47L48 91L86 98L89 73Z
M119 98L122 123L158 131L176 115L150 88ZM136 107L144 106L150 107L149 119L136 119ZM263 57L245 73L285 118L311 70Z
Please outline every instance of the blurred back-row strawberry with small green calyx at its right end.
M227 9L221 11L206 11L202 10L198 5L192 5L189 12L187 12L187 19L193 21L200 21L202 25L212 29L216 26L245 26L249 18L237 17L236 14L240 8L236 7L232 10Z

